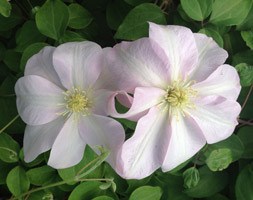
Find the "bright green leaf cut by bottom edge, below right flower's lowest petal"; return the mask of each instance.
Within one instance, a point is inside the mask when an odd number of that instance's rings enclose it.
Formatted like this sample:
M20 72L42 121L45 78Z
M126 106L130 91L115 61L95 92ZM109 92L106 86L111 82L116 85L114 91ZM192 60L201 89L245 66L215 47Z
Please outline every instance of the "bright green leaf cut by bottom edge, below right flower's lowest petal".
M159 200L161 196L162 190L160 187L142 186L133 191L129 200Z

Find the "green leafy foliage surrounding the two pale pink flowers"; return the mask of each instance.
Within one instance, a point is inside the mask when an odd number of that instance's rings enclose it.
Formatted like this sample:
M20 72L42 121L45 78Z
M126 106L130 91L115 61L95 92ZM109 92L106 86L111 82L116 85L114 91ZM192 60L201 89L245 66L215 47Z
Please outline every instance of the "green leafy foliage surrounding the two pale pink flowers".
M252 0L0 0L0 199L253 200ZM177 169L124 180L86 148L76 166L55 170L48 152L23 161L25 124L14 85L44 46L95 41L103 47L148 36L147 21L204 33L229 52L243 86L234 134L205 146ZM120 120L126 133L135 123ZM64 159L64 158L63 158ZM172 158L173 159L173 158ZM148 160L147 160L148 162Z

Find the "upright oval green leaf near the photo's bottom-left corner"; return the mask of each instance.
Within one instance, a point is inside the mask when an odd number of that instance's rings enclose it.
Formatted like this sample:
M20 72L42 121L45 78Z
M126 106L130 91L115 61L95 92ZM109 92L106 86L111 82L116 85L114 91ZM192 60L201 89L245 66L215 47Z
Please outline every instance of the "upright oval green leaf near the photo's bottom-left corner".
M30 187L30 182L26 176L25 170L20 166L16 166L9 172L6 183L14 196L19 196L27 192Z

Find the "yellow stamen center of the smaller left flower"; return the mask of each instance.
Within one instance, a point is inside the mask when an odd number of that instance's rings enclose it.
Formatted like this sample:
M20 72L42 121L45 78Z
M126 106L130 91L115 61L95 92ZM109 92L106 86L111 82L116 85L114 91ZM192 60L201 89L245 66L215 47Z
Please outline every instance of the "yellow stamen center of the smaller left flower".
M91 102L85 91L79 88L73 88L72 90L64 92L64 95L65 107L67 109L64 115L68 113L88 114Z

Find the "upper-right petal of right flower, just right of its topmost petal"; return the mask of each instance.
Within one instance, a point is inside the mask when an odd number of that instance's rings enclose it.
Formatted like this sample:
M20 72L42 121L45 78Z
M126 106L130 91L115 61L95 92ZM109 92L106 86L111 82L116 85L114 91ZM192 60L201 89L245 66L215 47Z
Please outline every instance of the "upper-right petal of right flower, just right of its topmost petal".
M226 61L228 53L220 48L212 38L204 34L194 33L194 37L199 60L191 75L189 75L189 79L200 82Z

